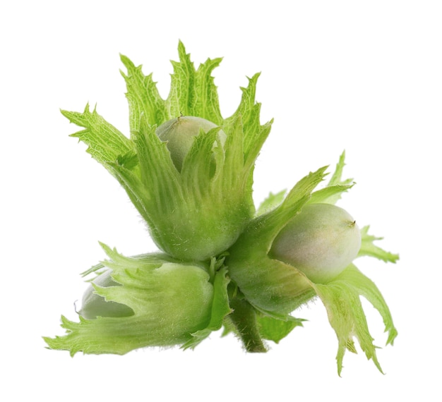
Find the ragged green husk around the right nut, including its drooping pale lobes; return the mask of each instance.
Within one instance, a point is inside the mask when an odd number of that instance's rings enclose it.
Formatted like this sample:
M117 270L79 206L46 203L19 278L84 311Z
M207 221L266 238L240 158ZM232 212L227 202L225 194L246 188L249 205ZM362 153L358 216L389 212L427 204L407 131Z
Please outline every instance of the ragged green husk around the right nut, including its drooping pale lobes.
M316 190L325 178L325 167L301 179L283 198L270 195L258 209L258 216L246 227L237 242L229 249L226 264L229 275L237 284L244 297L264 315L287 322L290 313L301 305L319 298L324 304L330 325L338 336L338 373L342 370L342 359L345 351L355 352L355 336L376 367L381 366L376 358L376 346L368 329L362 310L360 297L366 298L378 310L388 331L387 344L393 344L397 331L390 315L390 310L376 285L354 266L349 264L338 276L328 279L326 283L316 283L309 279L297 267L282 260L272 251L275 238L284 231L287 222L309 205L318 203L333 204L340 195L352 187L350 180L341 181L342 154L335 173L328 185ZM271 209L273 207L273 209ZM371 255L384 261L395 262L398 255L385 252L373 244L378 238L369 236L367 229L361 229L362 248L359 256Z

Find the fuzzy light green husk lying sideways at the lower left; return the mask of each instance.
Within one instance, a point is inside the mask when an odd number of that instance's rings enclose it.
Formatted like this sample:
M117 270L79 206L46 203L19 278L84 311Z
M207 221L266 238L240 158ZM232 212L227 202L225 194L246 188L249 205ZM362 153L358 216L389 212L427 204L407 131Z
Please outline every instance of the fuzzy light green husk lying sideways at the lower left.
M95 285L95 292L115 303L117 317L100 317L100 306L95 306L99 316L93 319L80 315L80 322L73 322L62 317L67 334L44 338L50 348L71 355L79 351L122 355L145 346L194 347L222 327L230 312L225 269L211 277L209 267L172 262L167 255L124 257L103 248L110 260L102 264L112 269L117 286ZM129 307L133 315L119 315L119 305ZM102 305L105 315L109 309Z

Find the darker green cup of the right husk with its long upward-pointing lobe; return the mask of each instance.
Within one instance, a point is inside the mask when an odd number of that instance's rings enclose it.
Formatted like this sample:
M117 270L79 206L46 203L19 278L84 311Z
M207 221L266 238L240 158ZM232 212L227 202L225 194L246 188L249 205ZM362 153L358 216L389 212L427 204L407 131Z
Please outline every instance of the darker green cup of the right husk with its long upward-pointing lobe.
M323 181L325 169L302 178L280 205L253 219L229 249L226 264L230 276L249 303L267 315L287 319L290 312L314 296L304 274L269 257L268 252L277 233Z

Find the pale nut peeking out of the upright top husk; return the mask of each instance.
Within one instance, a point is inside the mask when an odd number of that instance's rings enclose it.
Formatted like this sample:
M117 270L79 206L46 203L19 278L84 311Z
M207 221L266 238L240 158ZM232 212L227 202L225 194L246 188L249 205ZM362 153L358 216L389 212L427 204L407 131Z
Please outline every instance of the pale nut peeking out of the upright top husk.
M205 118L196 116L179 116L172 118L172 120L162 123L157 128L157 135L160 140L167 142L167 149L170 152L172 161L178 171L183 167L184 158L191 150L194 137L201 133L207 133L218 126ZM226 134L220 130L218 132L220 142L224 145ZM215 145L214 145L215 146ZM215 161L213 161L215 162Z

